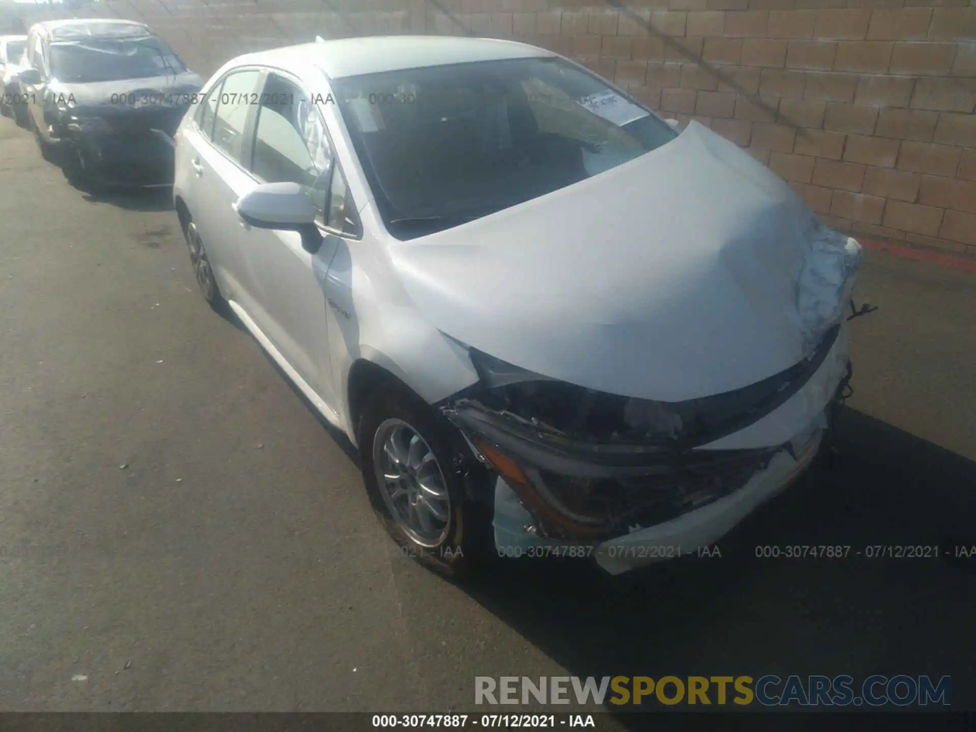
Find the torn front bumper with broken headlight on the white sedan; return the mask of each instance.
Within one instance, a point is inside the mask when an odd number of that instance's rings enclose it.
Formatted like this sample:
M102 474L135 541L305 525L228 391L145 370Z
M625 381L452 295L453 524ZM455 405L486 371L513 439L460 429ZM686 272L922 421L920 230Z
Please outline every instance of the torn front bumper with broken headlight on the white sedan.
M810 465L850 378L846 325L825 342L787 398L726 423L701 444L570 438L488 408L476 393L442 412L498 475L493 523L501 555L584 545L619 574L712 545Z

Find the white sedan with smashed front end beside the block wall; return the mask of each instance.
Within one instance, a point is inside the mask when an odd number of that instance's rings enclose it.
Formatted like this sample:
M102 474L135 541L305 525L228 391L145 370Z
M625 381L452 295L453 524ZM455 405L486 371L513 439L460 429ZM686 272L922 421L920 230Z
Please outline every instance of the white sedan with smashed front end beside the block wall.
M206 300L445 573L486 545L614 574L711 545L809 465L850 375L858 243L735 144L532 46L229 61L174 195Z

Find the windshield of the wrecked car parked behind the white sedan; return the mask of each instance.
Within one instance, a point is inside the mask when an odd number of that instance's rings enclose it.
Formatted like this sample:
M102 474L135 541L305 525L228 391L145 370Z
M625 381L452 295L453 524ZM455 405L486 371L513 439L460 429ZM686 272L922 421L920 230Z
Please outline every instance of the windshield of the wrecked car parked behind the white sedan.
M86 38L51 45L51 73L60 81L95 83L181 73L176 54L158 38Z

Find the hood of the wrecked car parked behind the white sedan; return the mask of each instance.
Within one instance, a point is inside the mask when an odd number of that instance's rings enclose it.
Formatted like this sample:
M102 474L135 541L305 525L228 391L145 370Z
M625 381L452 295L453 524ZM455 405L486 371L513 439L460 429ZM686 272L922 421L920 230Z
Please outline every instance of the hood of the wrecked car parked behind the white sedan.
M55 96L73 97L78 106L111 106L124 109L139 108L143 97L146 98L145 106L185 106L188 102L177 98L194 94L202 86L203 80L197 74L184 71L180 74L88 84L52 80L49 90ZM168 99L170 95L174 97L172 101ZM130 98L135 103L129 103Z

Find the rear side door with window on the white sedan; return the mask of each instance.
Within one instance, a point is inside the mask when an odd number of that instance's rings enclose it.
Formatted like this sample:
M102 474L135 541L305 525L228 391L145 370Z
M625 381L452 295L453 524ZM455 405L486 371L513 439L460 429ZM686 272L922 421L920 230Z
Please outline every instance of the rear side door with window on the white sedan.
M214 268L221 292L248 312L260 309L257 279L245 256L248 231L235 205L254 187L250 159L253 104L263 71L229 71L200 104L186 130L188 160L179 161L186 204Z

